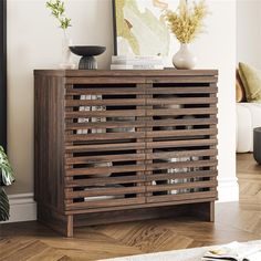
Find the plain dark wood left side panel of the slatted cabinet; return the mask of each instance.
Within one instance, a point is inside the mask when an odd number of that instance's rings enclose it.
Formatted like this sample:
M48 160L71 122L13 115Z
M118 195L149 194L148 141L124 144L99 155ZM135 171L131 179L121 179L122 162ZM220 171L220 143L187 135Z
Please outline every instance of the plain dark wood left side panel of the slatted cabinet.
M38 208L64 211L64 80L34 77L34 197ZM44 212L44 211L43 211ZM40 215L39 220L44 220Z

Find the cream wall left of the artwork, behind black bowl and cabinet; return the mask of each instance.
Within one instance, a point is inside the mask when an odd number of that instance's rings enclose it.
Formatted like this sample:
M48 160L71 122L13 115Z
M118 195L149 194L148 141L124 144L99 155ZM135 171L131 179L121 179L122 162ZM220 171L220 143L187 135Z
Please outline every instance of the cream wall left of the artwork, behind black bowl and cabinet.
M67 0L75 43L107 46L100 67L113 50L112 2ZM60 64L62 30L45 9L45 0L8 0L8 153L17 176L9 194L33 190L33 70ZM75 60L77 58L75 56Z

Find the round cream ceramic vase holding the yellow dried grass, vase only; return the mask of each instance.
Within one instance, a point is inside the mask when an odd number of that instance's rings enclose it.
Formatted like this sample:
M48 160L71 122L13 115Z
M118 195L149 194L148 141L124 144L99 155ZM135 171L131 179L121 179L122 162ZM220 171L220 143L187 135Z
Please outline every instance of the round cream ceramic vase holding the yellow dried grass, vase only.
M173 58L176 69L191 70L197 64L197 58L190 52L189 44L181 43L179 51Z

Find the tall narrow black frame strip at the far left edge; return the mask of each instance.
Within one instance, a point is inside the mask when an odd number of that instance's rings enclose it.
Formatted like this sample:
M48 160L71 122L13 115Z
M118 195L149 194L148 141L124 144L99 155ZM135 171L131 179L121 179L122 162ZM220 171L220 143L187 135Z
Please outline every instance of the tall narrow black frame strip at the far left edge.
M0 145L7 148L7 0L0 1Z

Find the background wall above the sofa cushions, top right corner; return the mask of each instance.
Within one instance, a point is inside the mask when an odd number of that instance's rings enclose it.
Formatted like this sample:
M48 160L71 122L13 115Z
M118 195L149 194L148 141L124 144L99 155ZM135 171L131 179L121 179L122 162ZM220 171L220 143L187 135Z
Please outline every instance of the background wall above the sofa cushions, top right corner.
M261 1L237 1L237 61L261 69Z

